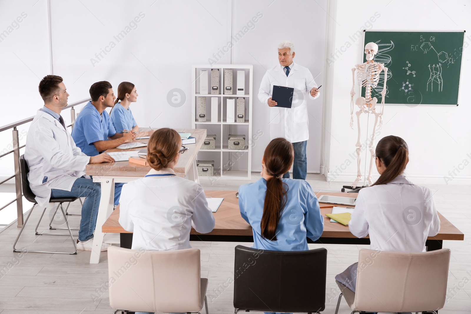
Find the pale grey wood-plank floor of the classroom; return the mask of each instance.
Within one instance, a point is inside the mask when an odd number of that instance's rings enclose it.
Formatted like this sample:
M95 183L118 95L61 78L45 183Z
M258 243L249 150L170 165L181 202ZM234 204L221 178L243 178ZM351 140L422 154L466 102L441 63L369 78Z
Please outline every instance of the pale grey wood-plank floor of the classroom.
M260 177L254 173L252 182ZM339 192L342 183L325 182L324 176L309 174L307 181L315 192ZM205 189L236 190L246 181L210 181L201 179ZM444 248L452 250L448 274L447 302L440 314L471 313L471 186L428 185L434 193L437 208L465 235L464 241L444 241ZM78 212L80 203L71 205L71 212ZM70 250L70 239L65 236L34 235L34 227L40 216L35 209L31 224L22 235L19 247L44 250ZM47 212L45 219L50 219ZM77 226L80 216L72 216L71 225ZM40 229L49 231L48 224ZM9 226L0 231L0 314L112 314L108 294L103 288L107 282L107 256L101 254L99 264L90 265L90 252L77 255L26 253L18 255L12 250L19 229ZM201 275L209 279L207 291L210 313L234 313L232 305L234 247L235 242L191 242L201 250ZM334 313L339 290L334 282L336 274L357 261L358 250L368 246L309 244L309 248L325 247L327 257L326 308L323 313ZM339 313L350 313L342 299Z

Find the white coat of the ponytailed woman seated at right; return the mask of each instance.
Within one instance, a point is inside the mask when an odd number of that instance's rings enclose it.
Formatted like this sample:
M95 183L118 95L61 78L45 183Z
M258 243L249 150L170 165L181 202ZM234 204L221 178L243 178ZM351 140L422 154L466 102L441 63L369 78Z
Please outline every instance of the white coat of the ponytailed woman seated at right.
M358 238L369 234L372 250L422 252L427 237L439 233L440 219L430 189L399 175L360 190L349 229Z

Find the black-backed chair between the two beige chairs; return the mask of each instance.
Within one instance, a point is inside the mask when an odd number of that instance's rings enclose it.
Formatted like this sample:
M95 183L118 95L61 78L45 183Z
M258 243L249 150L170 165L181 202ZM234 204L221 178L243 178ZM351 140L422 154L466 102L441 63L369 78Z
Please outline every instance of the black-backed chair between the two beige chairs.
M234 314L319 313L325 309L327 250L269 251L237 245Z

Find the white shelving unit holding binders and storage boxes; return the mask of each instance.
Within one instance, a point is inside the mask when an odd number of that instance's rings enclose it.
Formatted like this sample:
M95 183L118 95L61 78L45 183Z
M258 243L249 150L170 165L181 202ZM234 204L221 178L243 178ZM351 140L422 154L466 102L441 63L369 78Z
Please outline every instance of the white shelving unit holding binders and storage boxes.
M211 94L211 69L219 69L219 94ZM233 95L224 95L224 69L233 69ZM208 71L208 94L200 94L200 71ZM237 71L245 71L244 95L237 95ZM191 125L216 135L216 149L200 149L197 160L214 160L214 177L225 180L250 180L252 165L252 64L193 64L191 66ZM198 121L198 97L206 97L206 120ZM218 122L211 121L211 97L218 97ZM227 99L245 99L245 121L227 122ZM235 100L235 103L237 101ZM235 105L237 106L237 105ZM236 121L236 119L235 119ZM244 149L229 149L228 135L244 134Z

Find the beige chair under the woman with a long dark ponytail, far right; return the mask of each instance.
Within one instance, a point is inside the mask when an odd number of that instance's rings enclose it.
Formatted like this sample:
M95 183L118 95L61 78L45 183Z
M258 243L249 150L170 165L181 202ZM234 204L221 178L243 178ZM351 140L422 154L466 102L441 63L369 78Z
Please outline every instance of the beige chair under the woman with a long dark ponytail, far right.
M356 292L337 282L357 312L436 312L447 294L449 249L402 253L362 249L358 258Z

